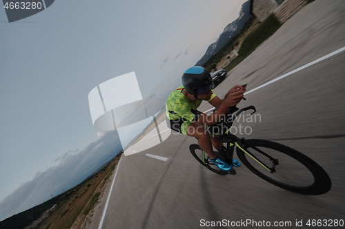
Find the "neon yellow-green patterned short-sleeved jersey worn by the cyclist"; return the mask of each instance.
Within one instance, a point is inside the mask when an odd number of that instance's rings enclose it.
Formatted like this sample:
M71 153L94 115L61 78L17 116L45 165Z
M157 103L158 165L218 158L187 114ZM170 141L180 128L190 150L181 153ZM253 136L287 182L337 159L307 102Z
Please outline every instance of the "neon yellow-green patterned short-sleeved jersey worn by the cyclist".
M186 134L186 129L190 122L194 121L197 108L201 105L202 100L190 101L182 90L184 86L178 87L168 97L166 101L166 116L170 120L180 120L184 118L184 123L181 125L182 133ZM212 91L210 100L215 98L215 93ZM208 101L210 101L208 100Z

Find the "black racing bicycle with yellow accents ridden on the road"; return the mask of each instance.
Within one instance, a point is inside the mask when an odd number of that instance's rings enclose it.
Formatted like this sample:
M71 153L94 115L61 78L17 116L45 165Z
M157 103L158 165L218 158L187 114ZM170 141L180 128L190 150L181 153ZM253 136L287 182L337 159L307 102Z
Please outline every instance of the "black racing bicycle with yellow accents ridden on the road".
M284 144L260 139L237 138L230 132L233 121L240 113L247 110L256 112L254 106L239 109L234 114L227 113L217 124L220 129L219 142L226 142L217 155L232 164L236 148L239 160L250 171L262 179L294 193L321 195L331 189L331 178L324 168L303 153ZM253 113L251 113L253 115ZM235 169L222 171L210 162L208 155L198 144L190 145L190 152L195 159L210 171L219 175L235 175Z

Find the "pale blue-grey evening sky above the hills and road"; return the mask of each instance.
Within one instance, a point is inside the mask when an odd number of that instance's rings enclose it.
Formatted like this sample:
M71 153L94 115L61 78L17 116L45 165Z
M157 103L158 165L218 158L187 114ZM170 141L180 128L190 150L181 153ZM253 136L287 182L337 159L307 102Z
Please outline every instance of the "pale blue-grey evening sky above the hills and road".
M122 149L117 131L92 124L93 88L135 72L142 96L163 107L245 1L55 1L12 23L0 9L0 221Z

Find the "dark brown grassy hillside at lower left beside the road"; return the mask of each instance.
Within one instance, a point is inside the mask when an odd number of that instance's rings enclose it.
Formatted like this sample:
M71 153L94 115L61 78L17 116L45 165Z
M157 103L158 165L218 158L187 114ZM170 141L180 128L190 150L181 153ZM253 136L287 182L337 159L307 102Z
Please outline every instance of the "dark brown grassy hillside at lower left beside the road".
M103 186L115 171L120 151L115 157L103 164L97 173L93 173L77 186L64 193L0 221L1 229L70 228L78 217L85 219L88 212L102 195ZM66 214L68 212L68 214Z

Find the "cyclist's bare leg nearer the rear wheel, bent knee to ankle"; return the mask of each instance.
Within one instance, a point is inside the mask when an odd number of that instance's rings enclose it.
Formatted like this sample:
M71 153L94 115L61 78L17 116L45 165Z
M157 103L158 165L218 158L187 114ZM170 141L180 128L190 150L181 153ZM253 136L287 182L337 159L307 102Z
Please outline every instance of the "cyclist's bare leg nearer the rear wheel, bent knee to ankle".
M213 151L210 134L206 131L204 125L192 122L188 125L186 133L188 136L197 138L197 144L199 144L200 148L207 153L210 159L214 159L216 157L215 152Z

